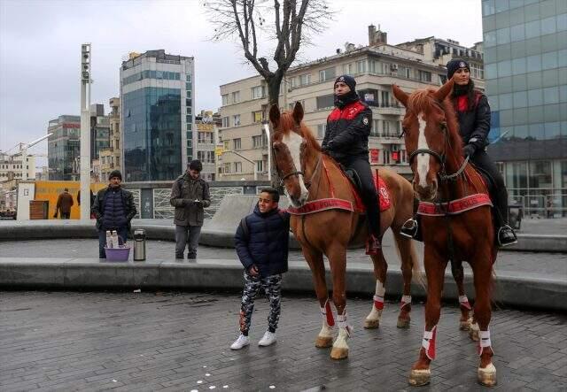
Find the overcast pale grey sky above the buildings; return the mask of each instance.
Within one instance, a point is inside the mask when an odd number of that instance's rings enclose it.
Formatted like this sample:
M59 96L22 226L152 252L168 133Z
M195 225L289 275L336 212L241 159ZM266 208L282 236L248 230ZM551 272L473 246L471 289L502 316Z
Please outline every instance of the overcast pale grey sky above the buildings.
M480 4L331 0L335 20L298 59L330 56L345 42L367 45L370 24L392 44L435 35L471 46L482 41ZM61 114L80 114L83 42L92 43L91 103L105 104L105 112L109 98L119 96L122 59L155 49L194 57L195 108L216 110L219 86L254 70L234 42L210 42L211 30L202 0L0 0L0 150L45 135L48 121ZM30 151L45 153L47 142Z

